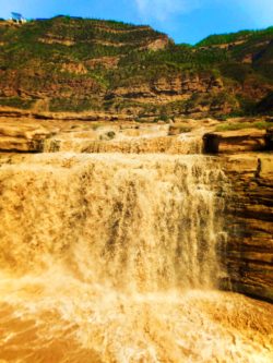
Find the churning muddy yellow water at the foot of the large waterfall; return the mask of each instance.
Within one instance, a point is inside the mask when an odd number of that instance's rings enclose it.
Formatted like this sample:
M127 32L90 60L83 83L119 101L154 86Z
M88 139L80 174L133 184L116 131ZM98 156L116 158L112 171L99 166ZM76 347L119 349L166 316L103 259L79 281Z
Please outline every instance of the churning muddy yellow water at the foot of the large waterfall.
M59 273L1 287L3 362L272 362L270 304L217 291L122 294Z

